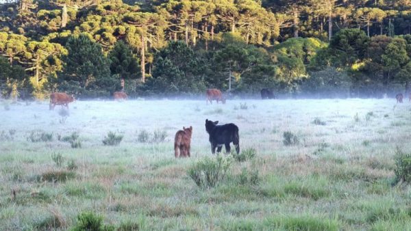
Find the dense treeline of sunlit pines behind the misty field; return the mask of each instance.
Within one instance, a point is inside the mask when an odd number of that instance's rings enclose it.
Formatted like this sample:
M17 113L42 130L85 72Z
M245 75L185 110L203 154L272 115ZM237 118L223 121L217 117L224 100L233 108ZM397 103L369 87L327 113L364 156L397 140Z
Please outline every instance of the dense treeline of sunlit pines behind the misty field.
M382 96L411 80L410 0L6 1L2 97L208 87Z

